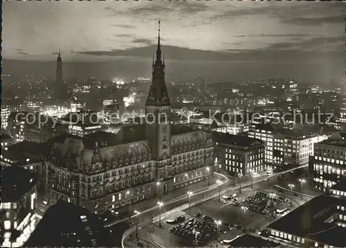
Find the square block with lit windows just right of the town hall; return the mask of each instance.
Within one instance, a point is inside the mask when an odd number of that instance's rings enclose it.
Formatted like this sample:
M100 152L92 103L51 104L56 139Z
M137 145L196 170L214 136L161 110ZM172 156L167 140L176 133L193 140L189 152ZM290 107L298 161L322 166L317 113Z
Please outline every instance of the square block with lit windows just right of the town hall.
M264 142L251 137L215 133L215 165L238 177L264 171Z

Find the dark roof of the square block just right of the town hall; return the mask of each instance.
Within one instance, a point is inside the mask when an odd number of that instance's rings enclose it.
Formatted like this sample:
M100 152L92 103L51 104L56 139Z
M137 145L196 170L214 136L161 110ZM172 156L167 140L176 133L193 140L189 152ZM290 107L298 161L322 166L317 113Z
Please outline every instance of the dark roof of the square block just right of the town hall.
M235 146L252 146L257 144L264 144L262 140L255 139L253 137L246 137L243 135L233 135L230 133L214 133L215 142L221 142L224 144L233 144Z

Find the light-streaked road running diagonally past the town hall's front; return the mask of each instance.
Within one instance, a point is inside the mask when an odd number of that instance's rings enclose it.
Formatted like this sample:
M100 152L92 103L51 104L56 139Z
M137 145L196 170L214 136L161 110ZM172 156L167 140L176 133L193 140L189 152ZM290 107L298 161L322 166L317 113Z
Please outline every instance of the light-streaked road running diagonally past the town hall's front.
M286 171L273 173L272 175L259 175L257 178L253 178L253 184L268 181L268 180L271 180L271 178L276 179L277 175L289 173L291 171L295 171L297 169L302 169L304 167L307 167L307 165L297 166L295 168L288 169ZM216 174L222 175L219 173L216 173ZM227 179L225 179L223 182L221 182L222 185L226 184L229 181L228 176L226 176L226 175L223 175L223 176ZM248 180L247 182L242 182L241 189L251 186L251 182L249 182L249 181L250 180ZM218 187L219 187L219 189L218 189ZM228 191L235 191L237 189L239 189L239 186L221 187L221 185L220 186L212 185L210 187L206 187L203 189L199 189L197 191L193 191L193 200L194 201L193 202L191 201L190 205L191 205L191 207L193 207L194 205L201 204L203 202L211 200L212 198L217 198L217 197L219 197L219 195L224 194ZM215 191L216 191L216 193L215 193ZM200 198L199 200L196 200L198 195L202 196L202 198ZM179 203L179 204L176 204L176 203ZM179 206L179 207L177 207L177 206ZM169 216L170 214L172 214L176 211L183 211L185 209L188 209L189 208L188 195L182 195L179 198L175 198L175 199L170 200L168 202L164 202L163 207L164 207L165 211L163 211L163 210L161 211L162 212L161 213L161 219L165 218L166 216ZM158 209L158 206L155 206L155 207L151 207L149 209L146 209L145 211L140 211L140 216L142 217L142 220L144 219L145 221L140 222L140 224L138 224L138 226L144 227L145 225L149 225L149 224L152 224L153 222L157 222L158 216L156 216L155 218L152 218L152 216L149 216L149 214L148 214L148 213L151 213L152 211L157 210L157 209ZM131 218L133 218L133 217L136 217L136 216L132 216ZM107 226L116 225L117 223L124 222L126 220L128 220L128 219L123 218L122 220L118 220L118 221L115 221L113 223L109 223ZM131 229L131 230L134 231L133 229ZM126 247L124 243L125 243L125 240L127 239L127 237L130 235L131 235L131 231L126 231L124 233L124 235L122 236L122 247Z

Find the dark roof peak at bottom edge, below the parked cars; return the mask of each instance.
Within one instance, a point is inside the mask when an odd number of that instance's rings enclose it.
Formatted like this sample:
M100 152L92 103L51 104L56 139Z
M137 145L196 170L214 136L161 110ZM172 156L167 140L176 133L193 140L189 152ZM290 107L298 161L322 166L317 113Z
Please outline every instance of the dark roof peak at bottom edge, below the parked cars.
M230 242L230 247L279 247L280 244L275 242L264 240L260 237L255 237L250 234L244 234L239 236L232 242Z

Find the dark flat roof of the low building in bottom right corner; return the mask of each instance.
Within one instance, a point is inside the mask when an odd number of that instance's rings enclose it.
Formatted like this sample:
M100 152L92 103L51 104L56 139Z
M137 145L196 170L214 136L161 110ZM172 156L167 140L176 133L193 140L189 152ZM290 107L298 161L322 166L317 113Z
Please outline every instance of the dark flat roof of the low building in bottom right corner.
M346 240L340 238L345 236L346 229L334 222L325 222L334 215L336 205L345 205L345 200L320 195L271 223L268 228L334 247L346 247Z

